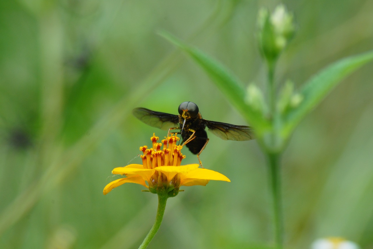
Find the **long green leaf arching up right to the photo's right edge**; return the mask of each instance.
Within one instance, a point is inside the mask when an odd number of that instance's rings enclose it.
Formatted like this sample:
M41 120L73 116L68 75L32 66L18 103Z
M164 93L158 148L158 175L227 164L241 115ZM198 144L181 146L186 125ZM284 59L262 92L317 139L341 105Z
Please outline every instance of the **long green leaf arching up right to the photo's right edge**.
M343 58L308 80L300 92L301 102L283 116L285 121L283 136L287 137L301 119L318 105L342 79L371 60L373 60L373 51Z

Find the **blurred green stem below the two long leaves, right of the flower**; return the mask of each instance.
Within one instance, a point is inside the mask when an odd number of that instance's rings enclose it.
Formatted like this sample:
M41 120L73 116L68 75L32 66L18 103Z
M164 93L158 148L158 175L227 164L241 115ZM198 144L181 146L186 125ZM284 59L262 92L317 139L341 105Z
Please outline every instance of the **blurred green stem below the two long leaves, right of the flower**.
M270 187L272 192L273 204L273 222L275 228L275 243L276 248L281 249L283 243L283 222L282 222L282 208L281 208L281 188L279 175L279 153L268 153L268 168Z

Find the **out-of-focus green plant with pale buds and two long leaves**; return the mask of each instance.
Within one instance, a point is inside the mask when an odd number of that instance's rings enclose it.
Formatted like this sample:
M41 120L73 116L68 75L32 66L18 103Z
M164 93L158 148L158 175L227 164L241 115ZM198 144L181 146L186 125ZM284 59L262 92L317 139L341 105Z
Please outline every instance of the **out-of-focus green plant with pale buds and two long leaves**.
M279 87L275 81L278 57L292 38L295 28L292 15L278 6L272 15L260 10L258 43L267 64L267 98L251 84L246 89L227 68L199 49L188 45L169 33L161 35L186 52L212 79L233 106L256 132L257 141L267 157L276 247L283 245L283 224L280 194L280 158L294 129L342 79L373 60L373 51L342 58L325 67L307 80L299 90L290 81ZM278 92L278 88L280 91Z

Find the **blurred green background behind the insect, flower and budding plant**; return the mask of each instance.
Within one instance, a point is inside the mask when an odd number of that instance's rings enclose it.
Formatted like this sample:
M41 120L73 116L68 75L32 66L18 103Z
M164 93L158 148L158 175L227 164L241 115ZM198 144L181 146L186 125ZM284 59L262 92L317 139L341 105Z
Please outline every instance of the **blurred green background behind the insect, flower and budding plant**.
M104 196L153 132L135 107L245 125L206 74L157 31L217 58L265 90L255 40L260 7L280 1L0 1L0 248L137 248L156 195L127 184ZM373 1L283 1L298 31L279 83L373 47ZM292 136L282 159L286 248L342 236L373 248L372 63L348 77ZM255 140L209 133L204 167L231 183L185 187L168 200L149 248L269 248L266 162ZM197 157L184 150L185 163ZM135 158L132 163L140 163Z

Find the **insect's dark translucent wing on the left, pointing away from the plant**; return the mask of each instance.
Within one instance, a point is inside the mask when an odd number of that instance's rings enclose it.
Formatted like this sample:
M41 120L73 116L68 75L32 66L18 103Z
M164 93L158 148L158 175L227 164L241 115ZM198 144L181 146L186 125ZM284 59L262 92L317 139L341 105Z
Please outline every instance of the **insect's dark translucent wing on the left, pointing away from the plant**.
M132 114L145 124L160 128L164 131L172 127L179 127L178 115L151 111L146 108L135 108L133 109Z

